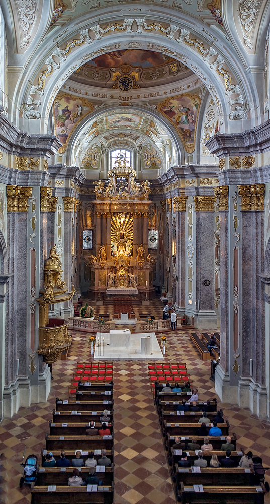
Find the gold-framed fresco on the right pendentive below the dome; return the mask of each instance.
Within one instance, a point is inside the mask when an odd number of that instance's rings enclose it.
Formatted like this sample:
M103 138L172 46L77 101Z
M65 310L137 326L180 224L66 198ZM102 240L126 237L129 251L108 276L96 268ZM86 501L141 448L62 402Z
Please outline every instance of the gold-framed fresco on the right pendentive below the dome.
M166 98L158 105L158 111L166 115L176 126L186 152L195 149L197 119L201 98L197 94L184 93Z

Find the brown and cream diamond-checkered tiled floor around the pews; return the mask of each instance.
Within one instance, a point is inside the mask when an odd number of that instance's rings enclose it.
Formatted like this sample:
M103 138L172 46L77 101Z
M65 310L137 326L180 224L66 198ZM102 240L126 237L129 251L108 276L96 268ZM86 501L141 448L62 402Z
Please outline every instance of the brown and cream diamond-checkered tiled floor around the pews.
M98 309L95 308L95 311L98 312ZM148 310L140 308L138 311ZM109 310L102 306L99 312L107 313ZM160 317L160 301L152 303L152 312ZM189 331L171 331L166 336L165 360L187 363L193 384L198 386L200 399L216 396L213 383L209 380L210 361L199 359L190 343ZM161 334L158 335L159 341L160 337ZM11 420L3 420L0 424L0 452L5 454L5 471L2 473L4 502L26 504L31 501L29 488L19 488L24 448L26 456L34 452L40 457L56 396L67 398L76 361L91 360L87 338L87 333L73 332L67 361L58 361L53 365L54 380L47 403L20 408ZM175 504L146 361L114 362L114 401L115 503ZM254 455L262 455L264 465L270 466L270 423L259 421L250 415L248 409L221 403L219 406L230 422L231 431L238 437L237 446L252 450ZM270 502L268 495L265 502Z

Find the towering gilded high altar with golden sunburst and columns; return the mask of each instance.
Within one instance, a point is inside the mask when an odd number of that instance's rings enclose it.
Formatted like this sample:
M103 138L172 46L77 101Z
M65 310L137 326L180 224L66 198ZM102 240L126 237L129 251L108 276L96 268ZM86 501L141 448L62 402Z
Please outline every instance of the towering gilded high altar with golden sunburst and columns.
M95 182L96 256L86 263L91 268L89 297L140 294L151 299L155 259L148 254L150 182L136 182L136 172L122 154L108 177Z

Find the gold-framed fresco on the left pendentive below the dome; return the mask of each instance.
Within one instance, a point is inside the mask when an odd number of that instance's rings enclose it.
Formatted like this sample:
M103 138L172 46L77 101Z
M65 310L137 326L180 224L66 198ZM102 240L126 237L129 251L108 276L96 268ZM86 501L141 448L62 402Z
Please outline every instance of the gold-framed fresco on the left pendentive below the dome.
M93 112L93 104L86 98L80 98L68 93L58 94L53 104L54 128L57 137L63 146L59 153L67 148L71 133L83 117Z

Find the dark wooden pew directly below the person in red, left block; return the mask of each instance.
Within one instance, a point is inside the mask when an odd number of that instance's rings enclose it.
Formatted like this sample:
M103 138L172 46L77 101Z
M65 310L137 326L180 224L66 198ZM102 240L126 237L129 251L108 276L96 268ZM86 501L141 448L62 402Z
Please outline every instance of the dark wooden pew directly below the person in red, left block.
M64 427L63 427L64 430ZM72 435L62 435L62 436L51 436L46 434L46 450L87 450L91 452L92 450L111 450L113 446L114 436L110 436L111 439L104 439L101 436L72 436Z

